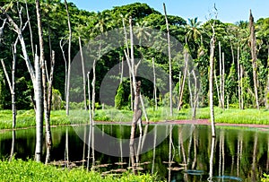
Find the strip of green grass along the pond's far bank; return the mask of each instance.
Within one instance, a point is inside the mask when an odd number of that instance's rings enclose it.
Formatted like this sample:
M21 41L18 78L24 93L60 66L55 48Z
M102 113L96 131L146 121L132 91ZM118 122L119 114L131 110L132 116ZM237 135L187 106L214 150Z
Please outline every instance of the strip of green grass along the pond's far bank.
M76 123L87 123L89 113L84 110L71 110L71 117L66 117L65 110L56 110L51 112L51 125L70 125ZM96 110L94 120L96 121L131 121L133 113L130 110L117 110L108 108ZM153 108L147 109L147 116L150 121L164 120L185 120L191 118L191 109L174 110L173 117L169 117L169 108L159 108L157 111ZM208 119L209 108L198 108L196 118ZM143 120L145 117L143 115ZM215 120L217 123L231 124L257 124L269 125L269 110L247 108L240 110L237 108L221 109L215 108ZM34 110L19 110L17 112L17 128L35 126ZM0 110L0 129L12 128L12 111Z

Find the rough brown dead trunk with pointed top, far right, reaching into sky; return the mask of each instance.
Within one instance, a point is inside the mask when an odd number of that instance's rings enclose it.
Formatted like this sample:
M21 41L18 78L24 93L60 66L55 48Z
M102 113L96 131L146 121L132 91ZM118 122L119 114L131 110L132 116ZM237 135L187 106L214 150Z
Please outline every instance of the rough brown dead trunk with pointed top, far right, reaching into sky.
M254 27L254 18L252 16L251 10L249 15L249 30L250 30L250 45L251 45L251 57L252 57L252 69L253 69L253 83L254 92L256 98L256 108L259 109L259 98L257 91L257 65L256 65L256 35Z

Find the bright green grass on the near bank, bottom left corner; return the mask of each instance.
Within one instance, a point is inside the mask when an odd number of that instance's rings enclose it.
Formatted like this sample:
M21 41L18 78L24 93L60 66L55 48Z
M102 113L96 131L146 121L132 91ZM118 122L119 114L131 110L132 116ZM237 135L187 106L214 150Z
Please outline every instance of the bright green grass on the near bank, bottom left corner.
M59 169L33 160L0 160L0 181L91 181L91 182L127 182L156 181L156 176L148 174L134 175L125 173L122 176L101 177L100 173L78 169Z

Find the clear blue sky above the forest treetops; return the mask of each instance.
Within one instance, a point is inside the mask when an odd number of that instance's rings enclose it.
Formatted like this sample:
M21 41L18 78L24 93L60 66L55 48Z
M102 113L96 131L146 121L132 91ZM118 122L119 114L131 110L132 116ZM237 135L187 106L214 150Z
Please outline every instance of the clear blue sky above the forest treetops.
M252 10L255 20L269 17L269 0L67 0L73 2L80 9L101 12L112 9L113 6L132 4L135 2L149 4L155 10L163 13L162 3L166 4L167 13L178 15L185 20L198 17L201 22L216 4L218 19L221 22L247 21L249 9Z

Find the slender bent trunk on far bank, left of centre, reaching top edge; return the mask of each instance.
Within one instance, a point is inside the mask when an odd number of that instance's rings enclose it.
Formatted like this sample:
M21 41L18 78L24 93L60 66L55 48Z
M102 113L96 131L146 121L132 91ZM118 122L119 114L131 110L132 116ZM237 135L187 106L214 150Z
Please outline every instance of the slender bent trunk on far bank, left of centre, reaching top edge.
M66 85L66 92L65 92L65 99L66 99L66 115L69 115L69 90L70 90L70 71L71 71L71 42L72 42L72 29L71 29L71 22L70 22L70 15L68 11L68 4L65 0L65 9L68 18L68 29L69 29L69 38L68 38L68 66L67 66L67 85Z

